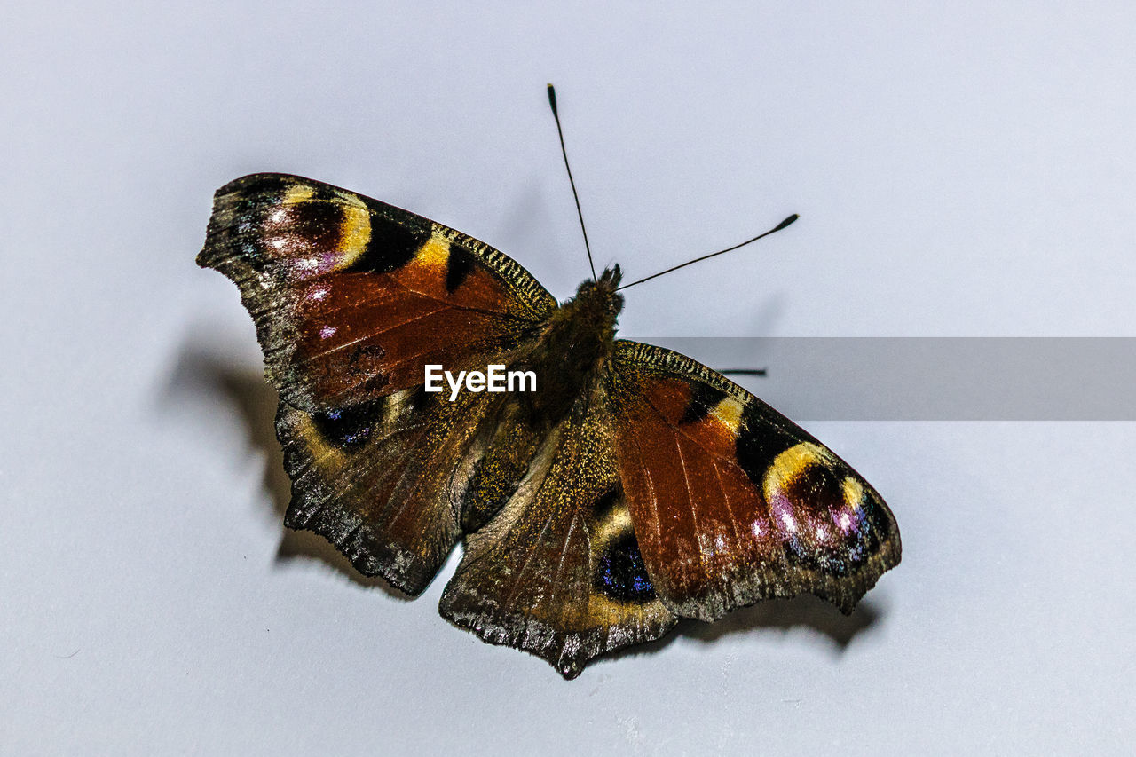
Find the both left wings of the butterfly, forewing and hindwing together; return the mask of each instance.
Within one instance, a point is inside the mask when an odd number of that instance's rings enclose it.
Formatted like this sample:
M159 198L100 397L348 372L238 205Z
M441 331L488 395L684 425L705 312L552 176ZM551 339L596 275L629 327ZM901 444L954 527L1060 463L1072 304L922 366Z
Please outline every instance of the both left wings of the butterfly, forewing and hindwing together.
M281 174L217 192L198 264L237 284L281 393L285 523L419 593L460 536L501 397L426 393L424 366L510 364L556 300L477 240Z

